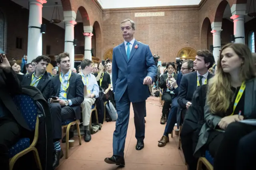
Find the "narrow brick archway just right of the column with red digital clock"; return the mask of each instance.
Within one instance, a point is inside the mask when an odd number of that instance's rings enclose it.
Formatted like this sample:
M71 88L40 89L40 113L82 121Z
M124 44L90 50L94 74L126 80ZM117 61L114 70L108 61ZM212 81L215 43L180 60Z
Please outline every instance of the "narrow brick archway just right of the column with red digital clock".
M96 46L96 56L99 59L102 59L102 32L101 32L101 27L100 23L98 21L95 21L93 24L93 29L95 32L95 46Z

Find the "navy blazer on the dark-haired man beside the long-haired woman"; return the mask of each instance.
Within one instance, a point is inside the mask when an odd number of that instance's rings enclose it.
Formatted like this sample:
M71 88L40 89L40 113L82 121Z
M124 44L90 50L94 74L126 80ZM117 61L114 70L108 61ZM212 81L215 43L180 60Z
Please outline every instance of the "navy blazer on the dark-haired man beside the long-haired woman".
M208 73L207 81L212 78L213 75ZM192 73L187 73L182 76L179 94L178 94L178 104L181 109L186 109L186 103L192 101L192 97L197 88L197 73L196 71Z

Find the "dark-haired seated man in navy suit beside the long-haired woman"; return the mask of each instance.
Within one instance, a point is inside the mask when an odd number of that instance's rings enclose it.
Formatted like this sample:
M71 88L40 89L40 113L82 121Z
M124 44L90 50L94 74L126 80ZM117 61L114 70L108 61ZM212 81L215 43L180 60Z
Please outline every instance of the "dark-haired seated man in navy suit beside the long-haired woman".
M214 57L209 50L205 49L197 51L193 68L197 71L183 75L180 82L178 104L180 105L182 115L186 115L187 109L192 105L192 97L196 89L199 86L207 84L209 79L213 77L213 75L208 72L208 69L211 68L213 64ZM185 126L186 125L183 125L183 127ZM183 136L181 132L180 138L185 160L190 170L194 170L196 169L197 160L195 160L193 156L192 136Z

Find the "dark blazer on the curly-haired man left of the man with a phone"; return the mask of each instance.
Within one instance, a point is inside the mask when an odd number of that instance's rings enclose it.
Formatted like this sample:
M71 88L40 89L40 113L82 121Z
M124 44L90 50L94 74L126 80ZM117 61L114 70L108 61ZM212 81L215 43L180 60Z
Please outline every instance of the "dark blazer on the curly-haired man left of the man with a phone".
M25 75L21 82L21 85L30 85L30 83L32 81L32 74L33 73L29 73L29 74ZM43 77L39 80L38 85L36 86L36 88L38 88L41 91L42 95L44 96L44 98L46 100L47 100L47 96L48 96L47 93L49 93L49 91L46 90L46 87L51 78L52 77L50 77L48 75L47 71L45 71Z

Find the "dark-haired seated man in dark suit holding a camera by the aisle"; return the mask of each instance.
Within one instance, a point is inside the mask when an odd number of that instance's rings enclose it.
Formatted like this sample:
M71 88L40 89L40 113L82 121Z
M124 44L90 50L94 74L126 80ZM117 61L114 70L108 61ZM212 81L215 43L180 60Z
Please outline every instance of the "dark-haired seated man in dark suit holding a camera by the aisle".
M174 79L177 79L177 74L175 74L174 71L175 65L173 62L168 62L166 64L166 69L167 69L167 73L161 75L160 77L160 88L163 89L163 95L162 95L162 99L164 100L164 106L162 109L162 117L160 119L160 124L164 125L166 118L168 117L168 113L169 113L169 109L170 109L170 105L172 103L172 96L174 95L174 88L170 87L167 88L166 85L169 84L168 80L170 79L170 77L173 77Z

